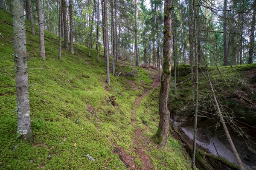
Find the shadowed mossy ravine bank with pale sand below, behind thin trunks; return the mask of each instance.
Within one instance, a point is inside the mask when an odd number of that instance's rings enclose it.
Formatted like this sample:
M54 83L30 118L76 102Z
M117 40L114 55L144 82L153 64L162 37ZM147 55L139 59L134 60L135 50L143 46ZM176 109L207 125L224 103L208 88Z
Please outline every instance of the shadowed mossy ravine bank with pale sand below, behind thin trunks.
M187 79L189 65L180 66L178 82ZM248 170L255 169L255 139L256 133L256 84L253 77L256 74L256 64L210 67L211 79L218 97L218 102L227 119L227 124L233 142ZM211 99L209 85L205 79L205 68L201 67L199 75L199 118L198 118L198 144L208 152L217 155L219 150L227 160L236 163L218 116L215 114L214 103ZM192 143L193 114L194 114L194 82L187 81L177 88L177 95L170 96L169 109L174 119L187 135L187 140ZM232 120L232 121L231 121ZM240 137L239 137L240 136ZM245 140L244 140L245 139ZM246 143L245 143L246 141ZM230 155L230 156L228 156Z

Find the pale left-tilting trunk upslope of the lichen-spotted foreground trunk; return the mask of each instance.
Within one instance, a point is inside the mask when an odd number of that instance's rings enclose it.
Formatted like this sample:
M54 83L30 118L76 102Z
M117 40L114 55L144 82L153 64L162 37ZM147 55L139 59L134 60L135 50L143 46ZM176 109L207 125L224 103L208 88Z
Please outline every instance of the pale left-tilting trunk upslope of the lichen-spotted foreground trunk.
M44 18L43 18L43 4L42 0L36 0L37 13L38 13L38 23L39 25L39 40L40 40L40 55L46 60L45 50L44 50Z

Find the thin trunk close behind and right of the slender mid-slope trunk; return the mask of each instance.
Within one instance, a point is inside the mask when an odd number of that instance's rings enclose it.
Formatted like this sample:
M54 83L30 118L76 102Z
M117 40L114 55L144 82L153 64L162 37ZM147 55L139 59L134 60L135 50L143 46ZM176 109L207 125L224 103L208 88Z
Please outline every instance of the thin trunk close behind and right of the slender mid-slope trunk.
M112 55L112 74L115 75L115 45L114 45L114 39L115 39L115 31L114 31L114 12L113 12L113 0L110 0L110 20L111 20L111 55Z

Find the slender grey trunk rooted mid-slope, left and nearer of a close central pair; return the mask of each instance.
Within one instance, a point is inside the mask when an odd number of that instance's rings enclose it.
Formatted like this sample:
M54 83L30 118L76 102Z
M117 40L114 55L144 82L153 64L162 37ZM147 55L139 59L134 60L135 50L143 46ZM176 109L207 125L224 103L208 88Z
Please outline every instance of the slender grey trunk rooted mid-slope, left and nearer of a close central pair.
M105 30L105 51L106 51L106 62L107 62L107 83L110 86L109 77L109 58L108 58L108 2L104 0L104 30Z

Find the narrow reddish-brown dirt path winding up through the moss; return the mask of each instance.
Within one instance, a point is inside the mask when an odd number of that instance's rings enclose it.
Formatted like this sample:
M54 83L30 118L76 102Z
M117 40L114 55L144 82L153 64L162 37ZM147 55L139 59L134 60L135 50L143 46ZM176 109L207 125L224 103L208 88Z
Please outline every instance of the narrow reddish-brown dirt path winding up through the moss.
M137 164L134 161L133 156L130 156L124 152L122 148L118 148L119 150L119 155L122 159L122 161L128 165L128 167L131 168L131 170L137 170L137 169L143 169L143 170L151 170L153 169L152 161L148 154L145 153L146 147L148 147L148 139L142 135L142 130L137 127L137 123L135 120L136 117L136 109L140 105L140 101L148 95L150 91L152 91L153 88L156 88L160 86L159 82L159 74L154 77L154 82L150 86L149 90L146 91L142 96L137 98L135 100L135 105L134 105L134 110L131 112L131 124L134 126L134 137L133 137L133 144L135 145L134 152L138 156L138 159L142 162L139 167L137 167Z

